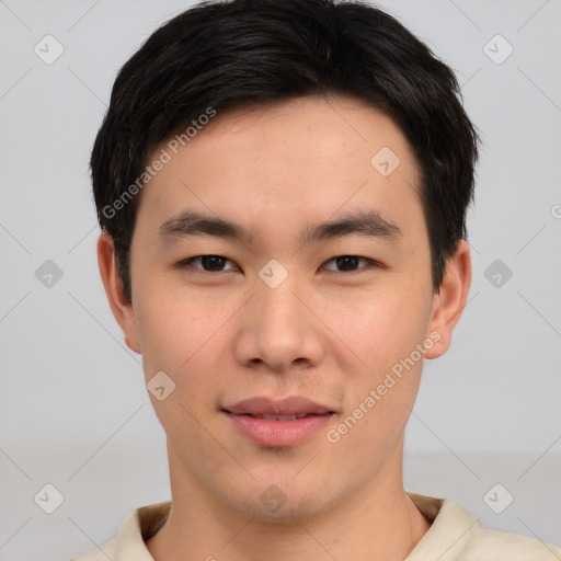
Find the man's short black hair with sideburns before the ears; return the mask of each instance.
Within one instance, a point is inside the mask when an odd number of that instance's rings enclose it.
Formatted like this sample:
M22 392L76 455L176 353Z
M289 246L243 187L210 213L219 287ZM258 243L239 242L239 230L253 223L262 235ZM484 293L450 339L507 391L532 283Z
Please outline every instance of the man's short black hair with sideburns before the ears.
M210 112L331 94L383 111L408 139L438 291L446 261L467 238L479 145L453 70L370 3L233 0L201 2L163 24L115 80L90 168L129 301L130 242L153 149L181 131L185 138Z

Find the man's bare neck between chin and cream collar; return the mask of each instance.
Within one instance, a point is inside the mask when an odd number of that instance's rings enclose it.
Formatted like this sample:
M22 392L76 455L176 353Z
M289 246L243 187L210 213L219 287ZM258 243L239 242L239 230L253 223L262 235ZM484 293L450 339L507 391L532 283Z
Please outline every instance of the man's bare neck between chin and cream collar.
M171 469L170 516L147 548L156 561L402 561L431 524L403 490L401 473L394 465L382 467L375 480L336 506L278 524L231 511L193 474Z

